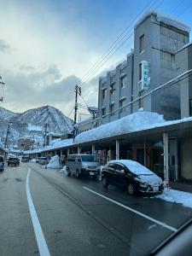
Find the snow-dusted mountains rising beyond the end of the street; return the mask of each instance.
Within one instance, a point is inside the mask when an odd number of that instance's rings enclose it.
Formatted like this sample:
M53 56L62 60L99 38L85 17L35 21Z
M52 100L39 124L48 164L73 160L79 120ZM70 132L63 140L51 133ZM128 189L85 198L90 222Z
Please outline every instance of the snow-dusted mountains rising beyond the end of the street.
M66 133L72 131L73 121L60 110L50 106L29 109L24 113L13 113L0 107L0 137L5 137L9 120L10 137L32 136L32 134L44 134L45 124L48 124L48 132Z

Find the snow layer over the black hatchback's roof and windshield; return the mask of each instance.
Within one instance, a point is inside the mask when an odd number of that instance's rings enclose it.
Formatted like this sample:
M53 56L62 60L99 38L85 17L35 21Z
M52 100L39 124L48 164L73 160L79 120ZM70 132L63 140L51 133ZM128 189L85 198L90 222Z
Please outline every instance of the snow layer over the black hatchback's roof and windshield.
M141 164L137 163L133 160L111 160L110 163L119 163L125 165L131 172L133 172L136 175L152 175L154 172L151 172L146 168L145 166L142 166Z

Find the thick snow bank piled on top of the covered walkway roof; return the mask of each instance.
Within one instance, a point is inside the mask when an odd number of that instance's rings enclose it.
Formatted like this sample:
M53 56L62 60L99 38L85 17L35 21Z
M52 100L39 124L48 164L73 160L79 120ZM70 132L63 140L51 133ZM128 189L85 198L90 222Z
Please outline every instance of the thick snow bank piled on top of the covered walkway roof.
M105 137L113 137L133 131L141 131L154 128L165 123L162 114L148 111L131 113L122 119L101 125L90 131L84 131L75 137L75 143L85 143L100 140Z

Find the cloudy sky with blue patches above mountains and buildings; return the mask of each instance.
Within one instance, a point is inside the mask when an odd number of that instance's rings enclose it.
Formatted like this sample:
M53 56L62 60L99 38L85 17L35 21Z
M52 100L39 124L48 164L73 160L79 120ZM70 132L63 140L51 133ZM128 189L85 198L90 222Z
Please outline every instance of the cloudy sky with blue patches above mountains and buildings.
M68 115L74 86L126 31L125 44L82 87L96 106L98 77L133 48L131 28L144 10L156 9L192 26L191 0L0 0L0 75L4 100L14 112L51 105ZM0 89L0 96L3 90ZM83 99L79 103L85 105ZM83 113L79 109L79 113ZM73 118L73 112L70 116Z

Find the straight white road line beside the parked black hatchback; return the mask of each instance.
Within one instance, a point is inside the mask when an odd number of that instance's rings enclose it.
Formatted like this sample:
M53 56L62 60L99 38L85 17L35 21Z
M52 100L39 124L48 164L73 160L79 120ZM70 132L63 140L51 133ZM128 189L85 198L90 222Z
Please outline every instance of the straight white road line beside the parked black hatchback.
M142 216L143 218L147 218L148 220L150 220L150 221L152 221L152 222L154 222L154 223L156 223L156 224L159 224L159 225L163 226L164 228L166 228L166 229L168 229L168 230L172 230L172 231L174 231L174 232L177 231L177 229L173 228L172 226L169 226L169 225L167 225L167 224L165 224L165 223L163 223L163 222L160 222L159 220L157 220L157 219L155 219L155 218L151 218L151 217L149 217L148 215L143 214L142 212L138 212L138 211L132 209L131 207L126 207L125 205L119 203L118 201L114 201L113 199L110 199L110 198L108 198L108 197L105 196L105 195L99 194L99 193L97 193L97 192L94 191L94 190L88 189L88 188L86 188L86 187L82 187L82 188L83 188L83 189L86 189L86 190L90 191L91 193L93 193L93 194L95 194L95 195L98 195L98 196L100 196L100 197L102 197L102 198L104 198L104 199L106 199L106 200L108 200L108 201L113 202L114 204L118 205L119 207L123 207L123 208L125 208L125 209L128 210L128 211L134 212L134 213L136 213L137 215Z

